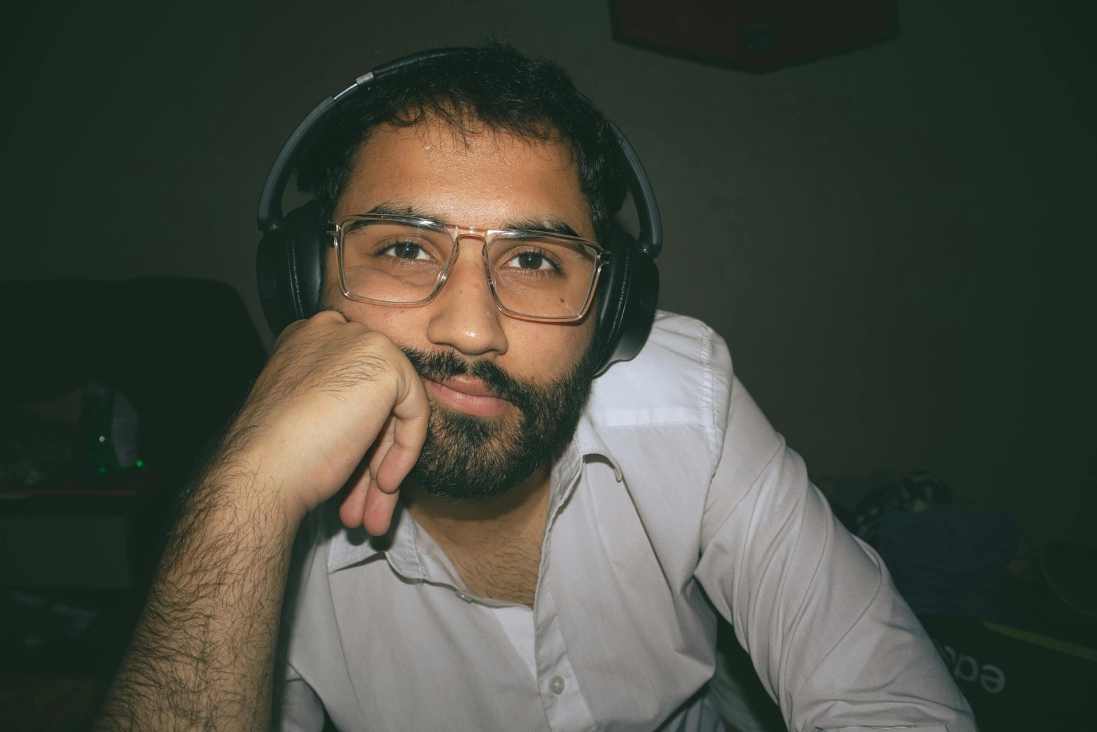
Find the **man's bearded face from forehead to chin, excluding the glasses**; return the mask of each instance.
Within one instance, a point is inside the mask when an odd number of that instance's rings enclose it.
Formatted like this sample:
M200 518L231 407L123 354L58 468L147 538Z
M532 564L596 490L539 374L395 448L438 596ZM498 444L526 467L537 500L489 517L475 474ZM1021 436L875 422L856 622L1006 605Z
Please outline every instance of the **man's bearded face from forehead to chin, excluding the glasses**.
M333 218L377 210L477 228L566 224L593 239L567 148L507 133L457 135L433 122L383 125L362 146ZM500 313L476 239L433 301L372 305L339 291L329 254L325 304L400 346L431 403L427 443L411 477L452 498L498 495L525 480L575 428L590 387L595 318L534 323Z

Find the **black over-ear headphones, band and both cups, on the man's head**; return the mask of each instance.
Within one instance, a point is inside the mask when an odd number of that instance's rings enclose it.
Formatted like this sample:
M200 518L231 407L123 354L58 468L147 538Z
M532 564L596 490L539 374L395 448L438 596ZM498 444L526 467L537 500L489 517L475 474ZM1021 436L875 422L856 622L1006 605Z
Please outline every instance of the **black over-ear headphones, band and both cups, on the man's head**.
M353 85L335 97L328 97L309 112L282 147L259 196L259 230L263 238L256 255L259 297L267 322L275 334L294 320L316 312L320 301L325 249L330 245L326 222L321 221L320 206L316 201L282 215L282 195L309 136L340 102L366 92L370 86L383 82L405 66L446 56L455 50L440 48L405 56L360 76ZM610 259L602 268L598 283L599 374L617 361L631 359L644 345L655 317L659 291L655 257L663 248L663 225L652 184L624 134L617 125L610 124L629 162L629 188L640 219L640 236L633 238L617 222L612 222L610 240L603 243L610 250Z

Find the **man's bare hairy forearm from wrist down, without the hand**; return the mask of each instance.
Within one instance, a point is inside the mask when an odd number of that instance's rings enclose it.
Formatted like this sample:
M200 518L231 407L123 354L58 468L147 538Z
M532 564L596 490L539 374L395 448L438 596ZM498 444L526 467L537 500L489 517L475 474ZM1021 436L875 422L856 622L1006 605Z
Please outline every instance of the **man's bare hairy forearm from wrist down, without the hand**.
M188 498L97 730L269 729L279 613L297 517L250 468Z

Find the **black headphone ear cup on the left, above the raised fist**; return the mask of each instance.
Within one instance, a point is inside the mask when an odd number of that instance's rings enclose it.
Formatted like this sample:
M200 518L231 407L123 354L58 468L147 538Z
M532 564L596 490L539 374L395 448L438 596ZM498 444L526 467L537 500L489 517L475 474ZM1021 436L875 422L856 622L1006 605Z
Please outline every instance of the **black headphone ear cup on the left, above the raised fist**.
M291 211L281 226L267 232L259 241L259 300L274 335L316 312L324 283L326 244L316 201Z

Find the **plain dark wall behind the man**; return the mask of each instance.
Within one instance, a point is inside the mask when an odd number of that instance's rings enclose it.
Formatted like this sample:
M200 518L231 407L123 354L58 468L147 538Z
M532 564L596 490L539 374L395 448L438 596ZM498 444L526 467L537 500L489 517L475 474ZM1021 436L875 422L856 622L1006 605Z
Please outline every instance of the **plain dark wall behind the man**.
M661 305L728 340L813 474L924 468L1093 543L1088 7L903 0L901 37L765 76L614 44L589 0L26 10L2 278L216 278L265 333L253 210L294 124L382 60L498 32L625 127L663 205Z

